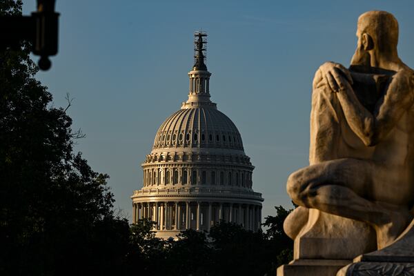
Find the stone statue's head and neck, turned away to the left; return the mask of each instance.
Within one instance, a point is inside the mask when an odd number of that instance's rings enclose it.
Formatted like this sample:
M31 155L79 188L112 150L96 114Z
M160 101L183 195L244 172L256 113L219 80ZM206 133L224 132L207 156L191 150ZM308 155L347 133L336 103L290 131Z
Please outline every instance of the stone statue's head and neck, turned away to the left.
M371 65L371 55L397 56L398 22L393 14L383 11L365 12L358 18L358 45L351 63Z

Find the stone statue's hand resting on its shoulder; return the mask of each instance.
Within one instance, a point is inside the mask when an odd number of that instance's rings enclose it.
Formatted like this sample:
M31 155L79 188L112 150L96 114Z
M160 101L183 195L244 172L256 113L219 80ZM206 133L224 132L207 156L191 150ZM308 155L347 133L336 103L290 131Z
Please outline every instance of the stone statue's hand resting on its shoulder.
M339 92L346 87L346 81L353 83L351 73L339 63L325 62L319 67L313 79L313 86L318 88L323 84L328 85L333 92Z

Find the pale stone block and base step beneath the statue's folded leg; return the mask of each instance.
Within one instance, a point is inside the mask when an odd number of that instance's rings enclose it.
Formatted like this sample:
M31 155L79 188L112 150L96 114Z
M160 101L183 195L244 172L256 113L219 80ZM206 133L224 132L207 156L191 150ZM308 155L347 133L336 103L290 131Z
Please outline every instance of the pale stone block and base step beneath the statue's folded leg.
M277 268L277 276L335 276L355 256L375 249L375 231L364 222L309 209L295 238L294 260Z

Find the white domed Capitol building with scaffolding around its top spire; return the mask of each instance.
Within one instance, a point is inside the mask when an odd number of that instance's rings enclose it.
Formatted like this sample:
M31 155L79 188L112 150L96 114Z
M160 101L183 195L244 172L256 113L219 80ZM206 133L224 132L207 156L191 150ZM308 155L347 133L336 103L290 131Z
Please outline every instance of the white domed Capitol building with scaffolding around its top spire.
M253 191L253 169L233 121L210 101L205 32L195 32L195 63L188 100L168 117L146 156L143 187L132 195L132 222L155 221L157 237L181 230L210 230L220 220L256 231L262 194Z

